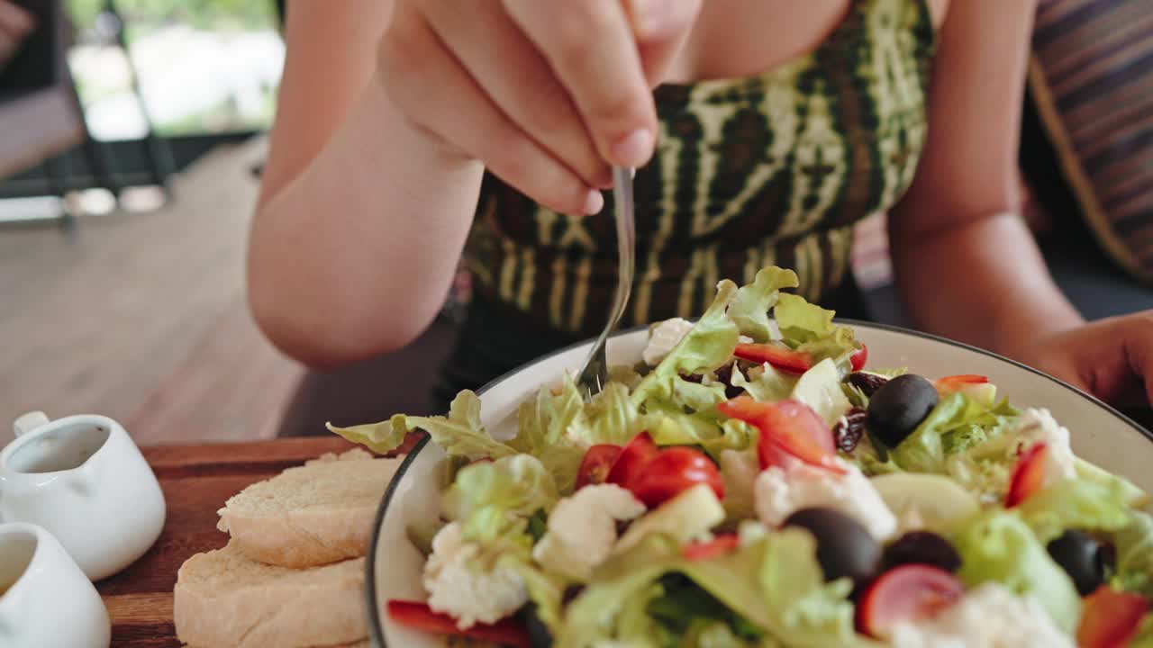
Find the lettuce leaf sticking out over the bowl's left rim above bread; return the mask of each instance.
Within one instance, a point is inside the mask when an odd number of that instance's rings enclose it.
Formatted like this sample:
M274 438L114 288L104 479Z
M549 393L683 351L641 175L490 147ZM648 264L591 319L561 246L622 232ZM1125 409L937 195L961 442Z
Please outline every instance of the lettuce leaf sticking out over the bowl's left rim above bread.
M493 439L481 423L481 399L469 390L457 394L447 416L406 416L397 414L387 421L338 428L326 424L329 431L361 444L372 452L385 453L395 450L405 436L420 428L429 434L432 443L450 455L475 459L499 459L517 451Z

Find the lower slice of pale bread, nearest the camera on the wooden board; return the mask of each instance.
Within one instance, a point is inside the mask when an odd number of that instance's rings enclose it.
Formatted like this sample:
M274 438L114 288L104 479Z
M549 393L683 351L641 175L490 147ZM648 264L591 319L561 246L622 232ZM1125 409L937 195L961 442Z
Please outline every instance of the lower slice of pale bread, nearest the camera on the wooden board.
M363 558L293 570L250 560L229 542L181 565L176 636L212 648L355 643L368 636L363 583Z

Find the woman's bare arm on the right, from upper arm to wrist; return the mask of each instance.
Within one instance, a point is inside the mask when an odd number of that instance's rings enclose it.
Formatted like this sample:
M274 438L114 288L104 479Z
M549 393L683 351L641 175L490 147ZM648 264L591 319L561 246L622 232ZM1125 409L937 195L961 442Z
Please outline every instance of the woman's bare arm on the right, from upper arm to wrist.
M889 226L897 286L917 324L1010 356L1083 322L1013 216L1033 10L1026 1L950 2L926 149Z

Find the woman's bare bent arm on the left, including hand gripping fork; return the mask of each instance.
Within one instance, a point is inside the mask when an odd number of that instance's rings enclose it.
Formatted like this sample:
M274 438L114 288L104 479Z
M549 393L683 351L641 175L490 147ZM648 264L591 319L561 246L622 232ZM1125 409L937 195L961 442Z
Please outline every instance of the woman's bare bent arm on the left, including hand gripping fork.
M598 212L609 163L653 155L648 85L700 0L391 5L288 10L249 288L267 336L312 364L397 348L428 325L484 168L545 206Z

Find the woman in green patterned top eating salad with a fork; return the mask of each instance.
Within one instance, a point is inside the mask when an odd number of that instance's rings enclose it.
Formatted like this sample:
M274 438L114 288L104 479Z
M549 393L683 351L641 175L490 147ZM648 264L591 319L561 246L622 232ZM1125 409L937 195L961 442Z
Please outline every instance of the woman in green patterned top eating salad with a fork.
M443 387L476 387L603 324L617 164L639 168L624 325L699 312L718 278L769 263L851 315L850 226L888 211L920 326L1109 400L1140 393L1153 318L1086 325L1016 214L1033 9L291 3L253 310L311 366L390 352L432 321L467 239L478 295Z

